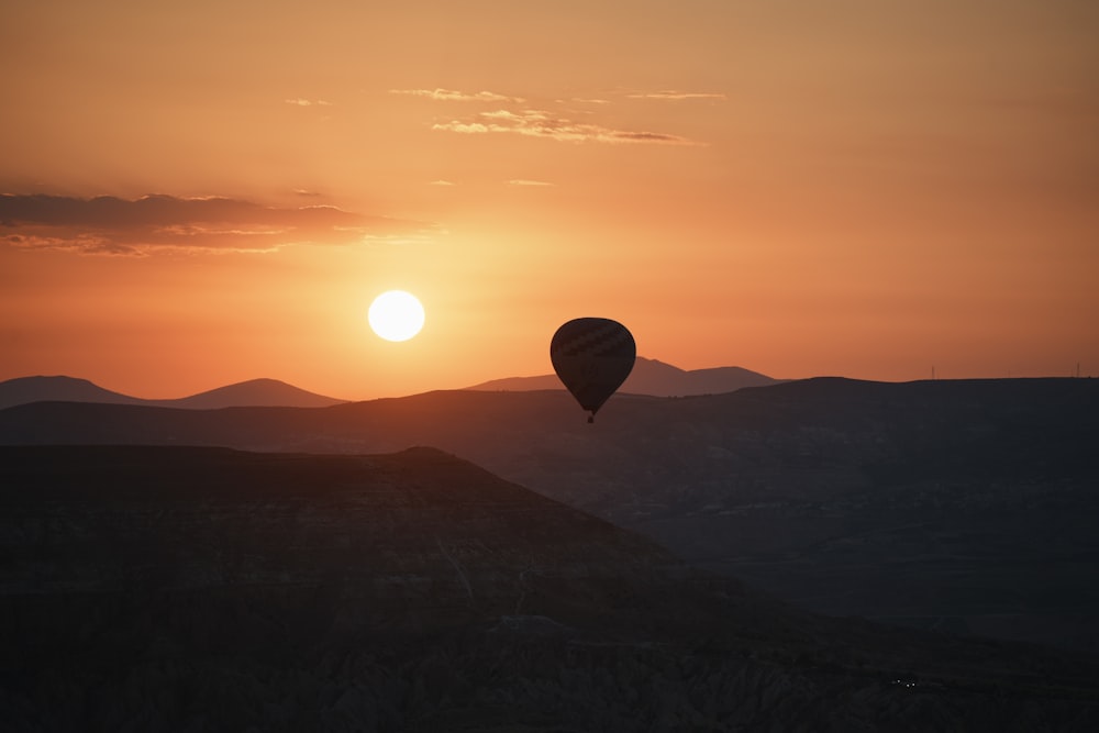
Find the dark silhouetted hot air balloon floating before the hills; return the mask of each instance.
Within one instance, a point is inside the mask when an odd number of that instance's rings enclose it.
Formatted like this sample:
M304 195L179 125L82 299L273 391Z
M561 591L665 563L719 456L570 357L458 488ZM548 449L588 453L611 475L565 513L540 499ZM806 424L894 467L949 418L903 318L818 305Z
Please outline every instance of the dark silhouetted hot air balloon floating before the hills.
M580 407L596 412L633 369L637 346L630 331L610 319L580 318L565 323L550 342L554 371Z

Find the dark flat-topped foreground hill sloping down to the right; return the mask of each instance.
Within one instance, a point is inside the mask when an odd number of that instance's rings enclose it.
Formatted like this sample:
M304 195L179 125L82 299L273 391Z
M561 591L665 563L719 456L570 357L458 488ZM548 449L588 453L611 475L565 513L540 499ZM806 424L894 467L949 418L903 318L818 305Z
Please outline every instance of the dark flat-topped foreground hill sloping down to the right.
M0 448L10 731L1094 731L1099 668L818 618L451 455Z

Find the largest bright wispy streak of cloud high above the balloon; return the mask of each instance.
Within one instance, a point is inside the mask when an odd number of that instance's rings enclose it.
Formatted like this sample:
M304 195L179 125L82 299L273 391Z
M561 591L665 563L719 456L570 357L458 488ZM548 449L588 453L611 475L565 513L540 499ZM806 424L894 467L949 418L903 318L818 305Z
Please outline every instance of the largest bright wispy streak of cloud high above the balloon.
M474 118L439 122L432 130L466 135L512 133L568 143L651 143L660 145L698 145L695 141L668 133L614 130L598 124L576 122L544 110L495 110Z

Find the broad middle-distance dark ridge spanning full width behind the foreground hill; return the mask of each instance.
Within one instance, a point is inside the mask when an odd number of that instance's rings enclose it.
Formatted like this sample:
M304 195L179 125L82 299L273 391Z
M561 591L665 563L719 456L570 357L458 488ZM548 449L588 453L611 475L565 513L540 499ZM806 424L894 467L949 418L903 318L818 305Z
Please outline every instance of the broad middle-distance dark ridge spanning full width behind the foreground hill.
M1099 380L812 379L690 398L37 403L0 443L434 445L813 611L1099 654Z

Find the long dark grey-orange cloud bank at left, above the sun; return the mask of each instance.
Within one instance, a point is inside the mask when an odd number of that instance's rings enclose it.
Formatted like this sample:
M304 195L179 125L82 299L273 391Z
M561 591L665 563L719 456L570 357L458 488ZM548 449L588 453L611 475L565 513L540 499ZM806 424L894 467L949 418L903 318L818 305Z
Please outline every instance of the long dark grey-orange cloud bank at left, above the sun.
M0 242L79 254L166 249L274 252L295 244L351 245L424 229L334 207L273 208L225 198L79 199L0 195Z

